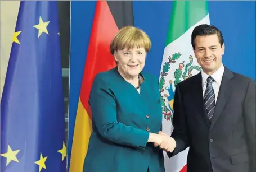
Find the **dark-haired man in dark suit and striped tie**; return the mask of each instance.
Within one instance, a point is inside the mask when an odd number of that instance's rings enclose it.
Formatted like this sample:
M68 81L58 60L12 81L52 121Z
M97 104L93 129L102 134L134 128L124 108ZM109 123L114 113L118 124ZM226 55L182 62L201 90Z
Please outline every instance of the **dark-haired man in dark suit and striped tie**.
M176 145L159 146L176 146L169 157L190 147L188 172L255 172L255 82L223 66L225 46L217 27L195 27L191 43L202 71L176 86Z

